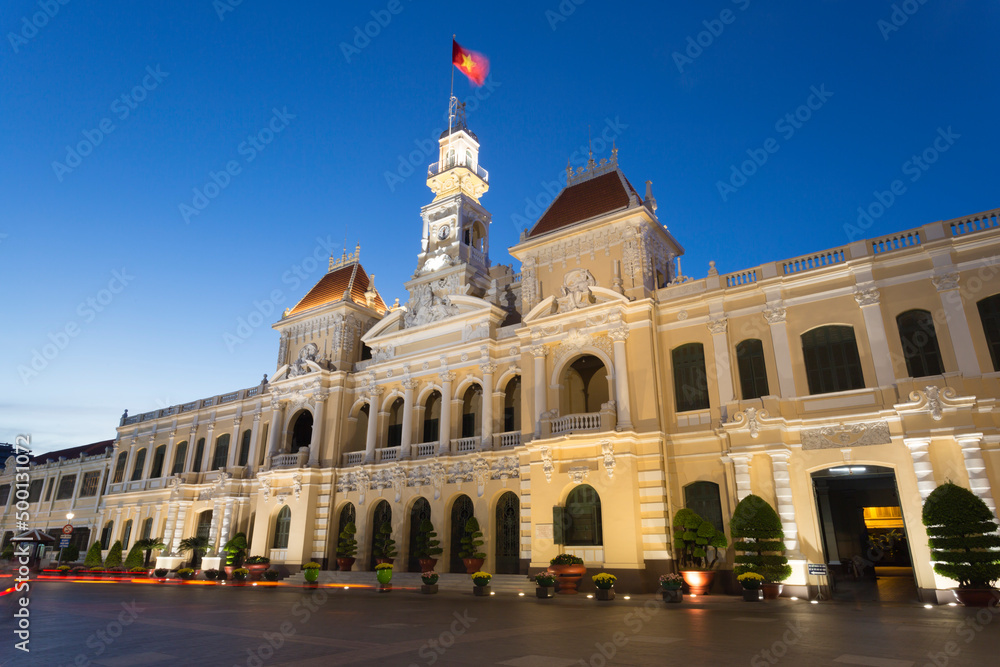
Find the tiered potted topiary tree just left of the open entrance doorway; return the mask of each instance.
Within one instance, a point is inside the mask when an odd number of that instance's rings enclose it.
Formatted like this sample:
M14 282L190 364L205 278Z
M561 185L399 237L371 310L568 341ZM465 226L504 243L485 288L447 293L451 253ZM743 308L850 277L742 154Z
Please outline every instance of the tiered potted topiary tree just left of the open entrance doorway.
M751 493L733 510L729 531L733 535L736 551L736 567L733 570L737 579L748 572L759 574L764 599L776 599L781 595L781 582L792 575L792 568L785 557L785 533L781 530L778 513L766 500ZM744 589L755 591L756 588L747 588L750 581L756 582L755 579L747 579L740 580L740 583Z

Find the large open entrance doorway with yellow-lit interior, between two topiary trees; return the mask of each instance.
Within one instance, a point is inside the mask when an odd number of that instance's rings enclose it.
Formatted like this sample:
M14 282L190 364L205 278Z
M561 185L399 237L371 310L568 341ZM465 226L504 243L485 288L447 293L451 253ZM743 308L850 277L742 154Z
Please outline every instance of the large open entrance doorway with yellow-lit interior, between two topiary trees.
M812 480L833 598L918 601L893 470L842 465Z

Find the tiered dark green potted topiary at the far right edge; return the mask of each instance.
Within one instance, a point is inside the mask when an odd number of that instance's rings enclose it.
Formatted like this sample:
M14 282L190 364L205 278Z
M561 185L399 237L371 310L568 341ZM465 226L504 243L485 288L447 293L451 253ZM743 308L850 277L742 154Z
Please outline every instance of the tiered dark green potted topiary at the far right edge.
M948 482L934 489L923 510L934 571L954 579L954 594L966 607L989 607L1000 600L1000 536L993 512L968 489Z

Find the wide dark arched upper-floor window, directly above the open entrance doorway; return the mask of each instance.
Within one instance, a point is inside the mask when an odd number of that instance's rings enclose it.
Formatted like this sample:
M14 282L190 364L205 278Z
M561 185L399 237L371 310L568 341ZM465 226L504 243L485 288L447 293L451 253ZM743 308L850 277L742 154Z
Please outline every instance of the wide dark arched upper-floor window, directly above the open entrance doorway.
M810 394L865 387L853 327L829 325L805 332L802 334L802 357Z

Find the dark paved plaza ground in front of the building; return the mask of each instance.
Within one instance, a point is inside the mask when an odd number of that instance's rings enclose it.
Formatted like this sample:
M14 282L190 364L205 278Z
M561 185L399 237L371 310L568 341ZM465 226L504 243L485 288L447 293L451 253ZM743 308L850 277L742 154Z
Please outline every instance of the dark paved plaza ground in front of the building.
M13 597L0 598L4 667L942 667L995 665L1000 656L1000 610L61 581L33 585L25 654L14 648Z

